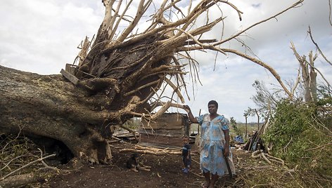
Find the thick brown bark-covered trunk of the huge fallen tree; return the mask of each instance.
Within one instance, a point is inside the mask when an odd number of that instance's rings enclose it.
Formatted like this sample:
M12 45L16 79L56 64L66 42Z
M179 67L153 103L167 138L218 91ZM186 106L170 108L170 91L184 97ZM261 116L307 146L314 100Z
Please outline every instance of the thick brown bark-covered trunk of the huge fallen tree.
M52 146L63 142L92 163L112 158L101 125L106 98L87 95L61 75L42 76L0 66L0 131L22 134Z

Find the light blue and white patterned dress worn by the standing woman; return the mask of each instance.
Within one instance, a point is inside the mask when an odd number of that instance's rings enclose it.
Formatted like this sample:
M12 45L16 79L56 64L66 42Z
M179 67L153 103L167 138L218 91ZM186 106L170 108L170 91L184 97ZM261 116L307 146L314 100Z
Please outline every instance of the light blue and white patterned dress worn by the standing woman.
M217 173L219 176L228 174L222 152L226 142L222 130L229 129L229 120L220 115L211 120L210 114L198 116L196 119L200 124L200 170L204 173ZM235 174L231 149L229 152L229 166L231 172Z

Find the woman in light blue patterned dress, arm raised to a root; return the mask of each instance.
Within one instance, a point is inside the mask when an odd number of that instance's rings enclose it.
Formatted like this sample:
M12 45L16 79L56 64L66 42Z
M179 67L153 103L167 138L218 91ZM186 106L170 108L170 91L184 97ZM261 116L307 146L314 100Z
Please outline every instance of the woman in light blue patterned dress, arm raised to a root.
M215 187L219 176L229 174L225 160L229 162L231 173L235 174L229 147L229 120L217 114L215 100L208 102L210 114L194 117L188 105L184 105L184 109L192 123L200 124L200 170L205 177L202 187Z

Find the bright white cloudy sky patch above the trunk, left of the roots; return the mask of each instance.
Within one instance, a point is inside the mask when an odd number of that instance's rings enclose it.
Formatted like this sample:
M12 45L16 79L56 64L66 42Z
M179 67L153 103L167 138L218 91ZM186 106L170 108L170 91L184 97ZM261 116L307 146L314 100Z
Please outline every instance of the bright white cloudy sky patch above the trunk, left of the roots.
M58 74L77 55L84 36L93 36L101 13L75 1L6 1L0 16L1 65L39 74Z

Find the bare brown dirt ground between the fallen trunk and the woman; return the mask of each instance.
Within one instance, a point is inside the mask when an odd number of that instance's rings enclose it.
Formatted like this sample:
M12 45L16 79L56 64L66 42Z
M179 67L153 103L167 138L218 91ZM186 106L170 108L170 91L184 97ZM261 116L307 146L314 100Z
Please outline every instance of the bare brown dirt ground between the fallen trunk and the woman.
M182 172L181 155L176 154L141 154L140 161L151 166L151 171L128 170L125 163L132 153L119 152L123 148L134 148L134 144L122 142L112 145L112 165L84 165L78 170L70 170L70 166L63 166L58 175L51 177L41 187L201 187L204 182L198 165L199 155L195 148L189 174ZM234 152L235 164L236 159L238 154ZM217 184L218 187L222 187L235 181L228 182L227 177L223 177Z

